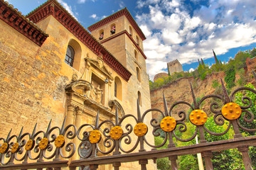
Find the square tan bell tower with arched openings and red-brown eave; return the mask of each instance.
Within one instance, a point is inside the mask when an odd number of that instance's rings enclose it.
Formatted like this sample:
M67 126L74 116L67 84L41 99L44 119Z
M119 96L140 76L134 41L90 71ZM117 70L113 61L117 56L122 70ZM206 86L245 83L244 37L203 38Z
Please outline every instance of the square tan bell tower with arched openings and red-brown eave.
M125 98L126 102L134 108L137 98L143 110L151 108L149 76L146 74L146 55L143 51L146 37L127 8L89 26L88 30L132 73L124 92L130 96Z

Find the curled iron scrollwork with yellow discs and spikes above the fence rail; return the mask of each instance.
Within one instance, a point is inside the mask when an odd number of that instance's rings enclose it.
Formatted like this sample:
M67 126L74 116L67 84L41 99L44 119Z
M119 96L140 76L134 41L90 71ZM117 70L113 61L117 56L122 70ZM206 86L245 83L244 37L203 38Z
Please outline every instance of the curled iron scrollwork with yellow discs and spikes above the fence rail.
M151 108L144 111L141 114L139 109L139 102L137 101L137 116L134 114L124 115L122 118L118 118L118 109L116 106L115 121L104 120L100 123L100 113L97 113L95 125L85 123L80 127L75 125L66 125L65 119L61 128L55 126L48 128L46 131L36 130L36 125L33 128L32 133L23 133L21 129L19 135L11 135L11 131L6 138L1 137L0 141L0 159L1 166L6 164L14 164L16 162L28 163L28 159L36 160L37 162L43 162L45 159L53 159L53 161L59 161L60 157L63 159L69 159L74 154L78 154L80 159L89 159L91 157L97 157L98 153L101 154L122 154L134 152L135 149L139 149L139 152L144 152L145 148L159 148L169 141L169 147L176 147L174 139L181 142L189 142L193 140L196 135L200 134L201 142L206 142L204 134L210 135L225 135L233 126L235 132L234 137L241 137L240 129L247 132L255 132L256 129L250 129L241 123L252 123L255 119L254 114L248 110L252 107L252 99L248 96L242 96L241 102L235 103L235 95L241 91L250 91L256 95L254 89L248 87L241 87L235 89L230 96L225 89L223 81L221 80L223 96L210 94L204 96L200 101L196 101L196 96L191 86L191 96L193 98L193 104L186 101L178 101L173 103L168 109L166 98L164 98L164 111L160 111L156 108ZM245 94L245 93L243 93ZM211 100L208 110L203 110L203 103L206 100ZM218 102L217 102L218 101ZM185 105L191 109L191 113L186 111L178 111L176 118L172 117L174 114L174 108ZM152 112L161 116L161 120L156 118L146 119L146 116ZM223 132L213 132L206 127L208 121L208 115L213 115L214 123L218 126L226 125ZM134 120L136 125L133 125L130 120ZM188 130L187 123L193 125L193 133L191 136L183 139L177 135ZM163 142L159 145L155 145L151 142L146 135L150 134L150 137L158 137L164 134ZM151 138L150 138L151 139ZM78 147L75 147L74 140L78 141ZM134 140L134 141L133 141ZM128 149L125 145L129 145ZM148 147L144 147L147 145ZM76 149L77 148L77 149ZM65 153L63 153L65 152ZM77 152L77 153L76 153ZM50 156L48 156L50 155Z

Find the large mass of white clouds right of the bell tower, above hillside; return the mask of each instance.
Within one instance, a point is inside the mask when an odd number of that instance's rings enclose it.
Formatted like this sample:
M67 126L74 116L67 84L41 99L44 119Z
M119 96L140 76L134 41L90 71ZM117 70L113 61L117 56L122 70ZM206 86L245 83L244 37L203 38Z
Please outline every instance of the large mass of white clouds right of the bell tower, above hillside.
M196 11L182 0L137 1L138 8L147 6L149 12L137 15L136 21L147 38L144 53L150 79L171 60L189 64L213 57L211 49L221 55L256 42L256 4L250 0L210 0Z

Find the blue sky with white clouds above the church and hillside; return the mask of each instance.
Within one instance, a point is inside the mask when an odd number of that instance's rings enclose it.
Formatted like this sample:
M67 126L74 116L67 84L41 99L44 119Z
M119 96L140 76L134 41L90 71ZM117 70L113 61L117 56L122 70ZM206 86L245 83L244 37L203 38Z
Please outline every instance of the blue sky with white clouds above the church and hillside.
M24 15L46 0L9 0ZM127 7L146 35L150 79L178 59L193 70L197 59L213 64L213 52L228 62L239 50L256 47L255 0L58 0L87 28Z

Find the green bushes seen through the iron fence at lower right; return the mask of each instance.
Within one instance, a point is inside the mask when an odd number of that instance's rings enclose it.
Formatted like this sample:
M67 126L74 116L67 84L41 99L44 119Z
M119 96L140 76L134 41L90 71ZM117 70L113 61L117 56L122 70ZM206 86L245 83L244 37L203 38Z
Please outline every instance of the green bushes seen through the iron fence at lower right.
M218 93L218 88L220 87L220 84L218 81L213 81L212 86L214 86L215 92ZM252 89L255 89L255 87L252 84L247 84L245 87L250 87ZM252 100L252 106L248 109L248 111L251 111L254 113L256 117L256 95L253 94L251 91L242 91L235 95L235 103L238 103L240 106L246 106L247 104L242 103L242 96L247 96L251 98ZM200 98L197 98L199 100ZM193 103L192 103L193 105ZM188 111L188 114L191 111ZM243 113L245 114L245 113ZM251 123L245 123L245 121L242 119L244 115L241 115L240 123L245 128L256 128L256 120L253 120ZM161 118L159 118L161 120ZM187 139L193 135L193 132L195 132L195 125L192 125L189 120L186 120L186 125L188 130L186 132L179 132L176 127L175 133L178 137L181 139ZM228 127L228 121L225 122L223 126L216 125L213 120L213 115L210 115L206 122L206 128L212 132L224 132L225 129ZM243 136L250 136L255 135L255 132L245 132L241 131ZM155 145L160 145L164 141L165 133L160 132L161 135L159 137L155 137ZM198 134L199 135L199 134ZM205 137L208 142L218 141L218 140L228 140L232 139L234 135L233 129L231 128L225 135L221 136L214 136L210 135L205 131ZM161 147L160 149L167 148L169 141L166 142L166 145ZM174 143L176 144L176 147L182 147L185 145L193 145L196 144L195 140L191 140L190 142L180 142L177 141L174 138ZM256 147L250 147L250 158L252 159L252 166L254 169L256 169ZM213 162L213 167L216 170L235 170L235 169L245 169L242 162L242 154L238 152L238 149L229 149L229 150L223 150L220 152L213 152L213 158L211 159ZM178 169L181 170L187 170L187 169L198 169L198 159L196 157L196 154L193 155L183 155L181 157L178 157L177 160ZM171 162L168 158L163 159L157 159L157 169L171 169Z

